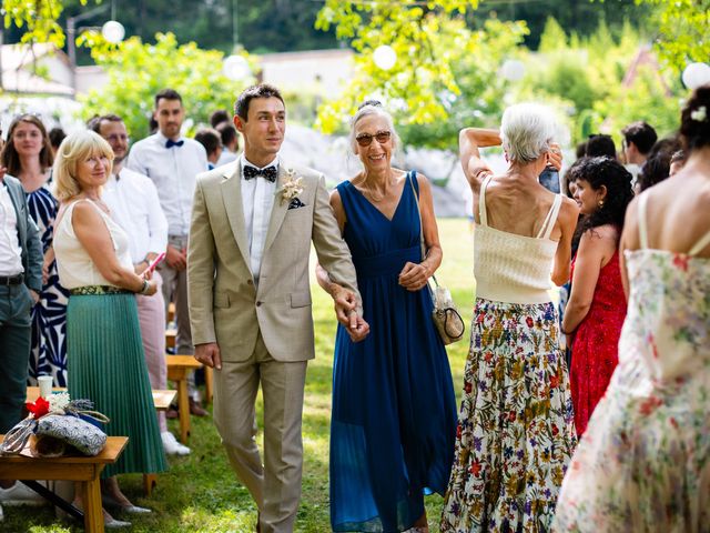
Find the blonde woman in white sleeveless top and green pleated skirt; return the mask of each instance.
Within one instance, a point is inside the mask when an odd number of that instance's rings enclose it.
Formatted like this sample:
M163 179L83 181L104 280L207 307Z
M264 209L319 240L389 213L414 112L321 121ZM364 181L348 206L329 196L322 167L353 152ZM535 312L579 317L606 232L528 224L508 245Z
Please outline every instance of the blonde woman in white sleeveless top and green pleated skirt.
M138 321L135 294L154 294L149 274L135 274L125 232L111 220L101 189L113 152L93 131L70 134L54 163L54 193L61 202L54 232L59 278L70 292L67 311L69 392L95 403L111 422L109 435L129 444L102 473L104 503L129 513L133 505L115 474L166 470ZM81 503L81 502L78 502ZM105 517L106 525L130 525Z

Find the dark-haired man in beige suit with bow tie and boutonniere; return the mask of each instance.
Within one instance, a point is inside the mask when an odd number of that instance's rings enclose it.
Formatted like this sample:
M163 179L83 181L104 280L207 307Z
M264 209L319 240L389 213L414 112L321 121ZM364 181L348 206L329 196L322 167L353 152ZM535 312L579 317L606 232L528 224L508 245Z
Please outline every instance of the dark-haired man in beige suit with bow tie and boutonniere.
M213 366L214 420L232 467L260 511L257 531L293 531L301 499L301 416L307 360L315 356L308 255L328 271L338 320L353 340L368 325L349 250L323 174L278 158L286 111L278 90L246 89L234 124L235 162L200 174L187 247L192 339ZM264 463L254 402L264 396Z

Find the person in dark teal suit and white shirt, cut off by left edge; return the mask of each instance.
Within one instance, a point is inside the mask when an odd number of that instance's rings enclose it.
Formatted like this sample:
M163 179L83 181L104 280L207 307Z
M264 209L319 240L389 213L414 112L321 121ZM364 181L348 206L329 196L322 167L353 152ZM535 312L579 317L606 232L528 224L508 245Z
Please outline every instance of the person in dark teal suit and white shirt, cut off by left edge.
M20 422L27 398L32 323L42 289L42 243L20 182L0 168L0 433ZM21 483L0 480L0 503L30 497ZM2 507L0 506L0 520Z

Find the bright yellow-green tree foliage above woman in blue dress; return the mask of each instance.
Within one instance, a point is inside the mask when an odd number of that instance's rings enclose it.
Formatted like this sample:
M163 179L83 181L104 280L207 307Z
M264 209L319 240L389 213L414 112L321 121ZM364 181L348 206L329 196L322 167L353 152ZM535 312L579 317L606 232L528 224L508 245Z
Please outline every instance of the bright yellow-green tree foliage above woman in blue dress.
M333 132L342 128L359 102L378 98L387 102L412 140L416 138L429 145L447 144L455 141L453 129L459 125L457 121L447 130L445 122L450 113L470 112L470 99L478 98L475 92L485 92L487 83L499 87L500 80L495 77L498 61L501 56L515 52L525 26L495 21L471 31L464 16L476 9L477 0L423 3L326 0L316 28L328 30L335 26L336 37L349 41L357 54L355 73L342 97L320 109L316 124L322 130ZM491 46L486 31L496 32L499 49ZM375 64L373 53L381 44L388 44L397 54L389 70ZM481 50L489 52L489 57ZM477 70L479 62L485 68ZM466 92L462 83L468 84ZM426 131L415 128L422 124L432 128Z

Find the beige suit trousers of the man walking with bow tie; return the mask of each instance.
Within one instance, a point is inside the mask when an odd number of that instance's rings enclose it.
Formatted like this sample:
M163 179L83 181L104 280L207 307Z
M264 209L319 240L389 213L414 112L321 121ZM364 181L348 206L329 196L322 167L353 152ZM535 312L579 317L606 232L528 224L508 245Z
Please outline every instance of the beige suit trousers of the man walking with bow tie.
M291 533L301 500L301 421L306 361L275 361L261 332L252 356L214 371L214 421L239 480L261 512L263 533ZM264 462L254 403L264 396Z

